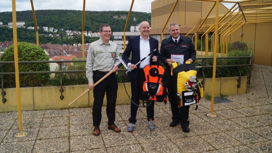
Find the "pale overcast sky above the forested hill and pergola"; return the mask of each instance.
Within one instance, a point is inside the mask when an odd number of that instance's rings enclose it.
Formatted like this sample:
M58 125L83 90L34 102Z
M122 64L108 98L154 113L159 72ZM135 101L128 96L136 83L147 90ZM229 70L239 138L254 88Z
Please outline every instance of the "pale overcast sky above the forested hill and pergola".
M153 0L135 0L132 11L151 12ZM234 0L231 0L234 1ZM236 0L235 0L236 1ZM86 0L86 11L129 11L132 0ZM0 12L11 12L12 1L0 0ZM83 0L33 0L35 10L40 9L69 9L82 10ZM224 3L231 8L233 3ZM16 11L32 10L30 0L16 0Z

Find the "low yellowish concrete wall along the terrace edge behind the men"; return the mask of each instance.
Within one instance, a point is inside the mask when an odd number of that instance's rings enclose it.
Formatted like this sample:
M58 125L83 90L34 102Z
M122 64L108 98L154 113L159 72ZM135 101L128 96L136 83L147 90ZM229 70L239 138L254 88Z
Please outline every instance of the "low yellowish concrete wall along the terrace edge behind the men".
M237 79L239 77L216 78L215 96L220 93L224 95L235 95L246 93L247 76L242 77L241 88L237 88ZM203 81L203 79L199 79ZM211 95L212 78L205 79L204 95ZM131 95L130 83L125 83L127 92ZM28 87L20 88L20 98L22 110L42 110L42 109L61 109L69 108L68 104L81 95L88 85L63 86L64 99L60 99L60 87ZM7 102L0 103L0 112L17 111L16 88L4 89L7 93L5 98ZM103 105L106 105L106 96ZM130 100L124 90L122 83L118 84L116 105L130 104ZM89 91L77 100L71 107L87 107L93 105L93 91Z

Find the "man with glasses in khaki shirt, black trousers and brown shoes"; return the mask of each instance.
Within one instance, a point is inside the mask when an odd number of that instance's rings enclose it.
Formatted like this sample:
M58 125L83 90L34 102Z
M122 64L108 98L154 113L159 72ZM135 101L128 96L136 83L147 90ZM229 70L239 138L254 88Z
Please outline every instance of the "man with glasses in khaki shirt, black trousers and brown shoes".
M89 81L89 89L93 89L93 135L100 134L99 125L101 123L101 108L106 92L108 116L108 129L114 132L121 132L120 128L114 124L115 121L115 103L117 97L117 79L115 72L118 71L117 65L120 60L115 56L119 54L119 48L116 43L109 41L111 38L111 27L108 24L102 24L99 27L101 38L90 44L86 62L86 76ZM116 57L116 58L115 58ZM109 71L111 75L93 87L94 83L105 76Z

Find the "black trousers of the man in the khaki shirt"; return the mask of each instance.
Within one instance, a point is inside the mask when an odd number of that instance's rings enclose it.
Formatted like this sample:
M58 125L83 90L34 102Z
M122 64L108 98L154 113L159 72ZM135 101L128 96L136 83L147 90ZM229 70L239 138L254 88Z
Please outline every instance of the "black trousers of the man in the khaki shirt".
M93 82L97 82L106 72L93 71ZM101 123L101 109L103 104L103 99L106 93L107 97L107 108L106 113L108 116L108 125L113 125L115 121L115 103L117 97L117 79L116 74L112 73L106 77L103 81L97 84L93 89L93 126L99 126Z

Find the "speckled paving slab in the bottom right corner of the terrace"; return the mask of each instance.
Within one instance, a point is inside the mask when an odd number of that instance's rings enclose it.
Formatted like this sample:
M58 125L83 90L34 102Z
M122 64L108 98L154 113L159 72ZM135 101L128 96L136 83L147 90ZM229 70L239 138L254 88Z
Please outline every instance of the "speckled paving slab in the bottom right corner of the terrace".
M255 144L247 144L246 146L259 153L268 153L271 152L272 141L257 142Z

